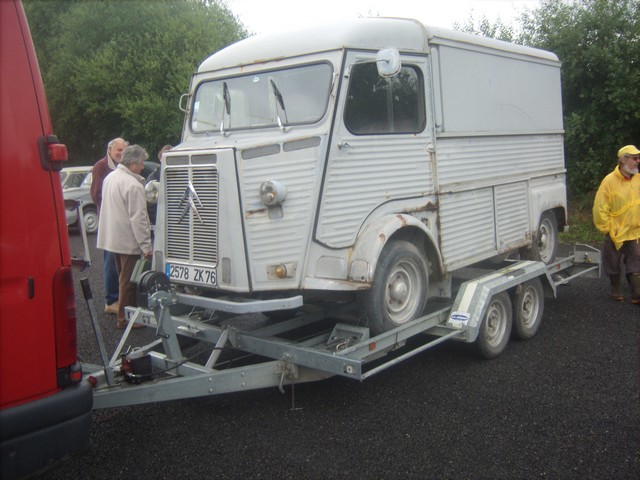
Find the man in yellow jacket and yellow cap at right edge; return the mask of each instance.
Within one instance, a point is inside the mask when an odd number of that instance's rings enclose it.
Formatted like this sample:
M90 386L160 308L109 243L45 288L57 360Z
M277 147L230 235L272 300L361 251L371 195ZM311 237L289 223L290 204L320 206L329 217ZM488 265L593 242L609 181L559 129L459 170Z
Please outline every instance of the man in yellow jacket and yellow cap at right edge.
M621 263L640 304L640 150L627 145L618 150L618 165L607 175L593 204L593 223L604 234L604 273L611 279L611 297L624 301Z

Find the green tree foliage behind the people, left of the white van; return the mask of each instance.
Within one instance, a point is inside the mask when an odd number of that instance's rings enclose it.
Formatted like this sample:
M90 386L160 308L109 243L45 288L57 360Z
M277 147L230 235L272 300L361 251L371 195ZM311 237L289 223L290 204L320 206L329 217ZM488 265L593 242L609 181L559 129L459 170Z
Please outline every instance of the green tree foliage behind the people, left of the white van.
M119 136L152 157L177 143L178 101L198 64L247 36L219 0L24 0L24 6L56 133L85 164Z

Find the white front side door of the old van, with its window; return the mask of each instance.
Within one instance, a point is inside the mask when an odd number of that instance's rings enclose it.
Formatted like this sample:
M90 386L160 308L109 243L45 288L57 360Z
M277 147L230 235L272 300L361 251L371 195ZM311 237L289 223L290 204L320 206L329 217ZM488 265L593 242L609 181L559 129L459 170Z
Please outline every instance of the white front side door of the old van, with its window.
M434 192L426 56L402 56L400 73L381 77L376 52L346 54L316 240L355 243L365 221L425 204Z

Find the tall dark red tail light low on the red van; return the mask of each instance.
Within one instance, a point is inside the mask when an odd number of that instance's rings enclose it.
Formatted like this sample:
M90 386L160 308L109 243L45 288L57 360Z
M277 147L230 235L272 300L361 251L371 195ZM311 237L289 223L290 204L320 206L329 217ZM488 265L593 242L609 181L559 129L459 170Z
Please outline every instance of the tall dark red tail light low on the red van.
M58 269L53 277L53 314L56 336L56 368L58 386L71 383L77 373L78 343L76 333L76 300L69 267ZM62 383L62 384L61 384Z

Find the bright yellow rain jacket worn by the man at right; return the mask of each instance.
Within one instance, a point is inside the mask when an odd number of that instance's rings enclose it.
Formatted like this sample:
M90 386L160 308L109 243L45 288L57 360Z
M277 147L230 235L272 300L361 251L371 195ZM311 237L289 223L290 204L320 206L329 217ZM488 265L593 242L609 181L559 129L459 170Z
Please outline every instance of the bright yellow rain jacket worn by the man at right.
M593 223L618 250L640 238L640 174L626 179L618 166L604 177L593 203Z

